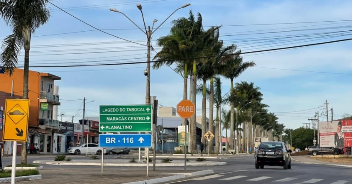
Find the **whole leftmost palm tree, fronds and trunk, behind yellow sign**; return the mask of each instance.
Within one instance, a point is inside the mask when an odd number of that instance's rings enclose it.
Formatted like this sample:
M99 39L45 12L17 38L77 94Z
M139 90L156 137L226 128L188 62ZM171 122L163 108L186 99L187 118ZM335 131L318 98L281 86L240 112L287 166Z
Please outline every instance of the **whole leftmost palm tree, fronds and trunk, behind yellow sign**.
M31 35L48 22L50 13L47 0L0 0L0 15L12 28L12 34L2 42L0 60L4 70L12 75L18 63L18 54L24 47L23 99L28 99L29 50ZM27 143L22 143L21 163L27 164Z

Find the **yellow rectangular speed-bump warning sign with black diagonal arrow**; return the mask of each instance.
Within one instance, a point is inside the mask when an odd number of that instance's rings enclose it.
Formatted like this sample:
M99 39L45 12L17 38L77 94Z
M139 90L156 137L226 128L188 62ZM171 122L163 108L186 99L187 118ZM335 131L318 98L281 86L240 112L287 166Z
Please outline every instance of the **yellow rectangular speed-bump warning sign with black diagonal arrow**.
M2 140L27 141L29 100L6 99Z

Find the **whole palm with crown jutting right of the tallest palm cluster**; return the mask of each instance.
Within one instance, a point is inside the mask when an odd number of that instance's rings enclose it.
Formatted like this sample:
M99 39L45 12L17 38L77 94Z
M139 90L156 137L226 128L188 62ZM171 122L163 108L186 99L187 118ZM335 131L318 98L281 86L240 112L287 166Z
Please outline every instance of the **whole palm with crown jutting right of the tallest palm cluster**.
M241 73L243 73L247 68L255 66L256 64L254 62L243 62L242 57L240 57L241 51L235 52L235 47L234 49L230 50L227 53L234 53L234 55L229 55L227 57L224 57L223 62L224 62L224 70L222 71L222 76L226 77L227 79L230 79L231 81L231 88L230 88L230 98L233 98L233 79L237 78ZM232 101L230 101L230 109L231 109L231 120L230 120L230 148L234 149L234 144L233 144L233 130L234 130L234 104Z

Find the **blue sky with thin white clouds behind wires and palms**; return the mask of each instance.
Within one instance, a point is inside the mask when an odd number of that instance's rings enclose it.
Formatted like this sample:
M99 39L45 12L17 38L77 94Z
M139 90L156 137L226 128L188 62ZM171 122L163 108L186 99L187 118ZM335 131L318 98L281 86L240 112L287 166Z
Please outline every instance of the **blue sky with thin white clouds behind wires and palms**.
M131 0L127 2L113 0L52 0L51 2L61 8L67 9L69 13L100 29L119 29L107 30L107 32L124 39L137 41L142 44L145 44L145 35L138 29L130 29L136 27L122 14L111 12L109 11L109 8L116 8L119 11L124 12L140 27L143 27L142 17L136 7L138 2L140 2L143 6L143 13L147 26L152 25L153 19L158 19L158 22L156 23L156 26L158 26L159 23L161 23L176 8L188 2L191 3L191 6L180 9L172 15L171 18L153 34L152 45L156 48L156 50L160 50L160 48L156 46L155 40L160 36L169 33L169 27L171 26L170 21L182 16L188 17L189 10L192 10L195 14L197 12L202 14L204 26L223 25L224 27L220 30L220 38L224 40L226 45L231 43L237 44L239 49L242 49L243 52L350 38L350 35L345 35L328 39L316 38L296 40L307 38L302 37L291 38L291 40L283 40L282 42L284 43L276 43L273 45L266 45L270 42L260 43L260 41L256 41L258 38L269 36L349 30L352 26L352 21L284 25L252 25L263 23L348 20L352 17L352 12L348 9L352 5L352 2L350 1L223 0L214 2L211 0ZM52 6L48 5L48 7ZM80 8L70 9L69 7ZM243 26L249 24L252 26ZM6 35L11 33L11 29L7 27L2 20L0 20L0 27L0 39L5 38ZM314 28L325 29L264 34L264 32ZM52 7L49 22L40 27L32 37L30 63L34 66L39 63L42 65L65 65L68 63L83 61L111 63L112 61L102 62L101 60L120 59L126 60L113 62L145 61L146 48L144 46L136 45L134 43L127 43L123 40L119 40L98 31L43 36L92 29L93 28L79 22L68 14ZM349 32L345 34L348 33ZM245 43L239 42L241 39L251 38L254 41ZM96 42L113 43L99 45L86 44L75 47L67 45L72 43ZM64 45L57 47L58 44ZM291 70L352 73L352 63L350 60L350 53L348 52L351 50L351 44L351 41L346 41L327 45L283 50L280 52L245 54L243 55L244 60L256 62L257 67L246 70L238 79L235 80L235 82L254 82L257 87L260 87L262 93L264 94L263 102L270 105L269 110L276 113L279 117L279 122L284 123L289 128L297 128L302 126L303 122L307 122L308 118L312 118L312 116L314 116L314 111L316 110L319 110L321 113L323 108L318 107L320 107L325 100L328 100L329 108L333 107L334 118L339 118L344 113L349 113L351 111L351 107L349 105L352 102L350 98L352 86L349 83L351 75L312 73ZM56 46L54 47L53 45ZM99 48L100 50L97 50ZM54 50L55 52L43 52L48 50ZM115 52L63 54L105 51ZM155 52L152 54L155 55ZM19 57L20 63L23 63L22 55L23 53L21 53L21 56ZM144 69L145 64L108 67L31 68L31 70L50 72L62 77L62 80L57 81L56 84L59 85L59 95L60 98L63 99L61 101L61 106L59 107L59 113L65 112L66 114L63 116L63 120L70 120L72 115L77 114L76 111L80 108L80 104L82 102L65 100L79 99L83 97L86 97L88 99L87 101L94 100L94 102L87 104L86 114L88 116L98 115L99 105L143 104L145 96L145 76L143 75ZM223 91L225 94L230 89L230 81L223 79L222 82ZM182 77L170 68L162 67L161 69L151 71L151 95L157 96L161 105L175 107L178 101L182 99L182 88ZM312 108L316 109L305 110ZM197 109L197 114L201 115L200 96L197 97ZM228 109L228 107L225 107L225 109ZM291 111L298 112L286 113ZM329 114L331 114L331 112L329 112ZM320 118L322 117L323 116ZM79 112L75 117L76 120L78 120L78 118L82 118L81 112Z

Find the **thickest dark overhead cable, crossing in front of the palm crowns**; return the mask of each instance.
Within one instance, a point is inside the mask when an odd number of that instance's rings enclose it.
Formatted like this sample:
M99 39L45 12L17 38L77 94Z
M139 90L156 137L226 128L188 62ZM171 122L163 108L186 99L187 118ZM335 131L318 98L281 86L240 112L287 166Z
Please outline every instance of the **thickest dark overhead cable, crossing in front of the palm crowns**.
M311 44L306 44L306 45L298 45L298 46L290 46L290 47L281 47L281 48L273 48L273 49L265 49L265 50L256 50L256 51L249 51L249 52L243 52L240 54L251 54L251 53L260 53L260 52L268 52L268 51L274 51L274 50L283 50L283 49L291 49L291 48L300 48L300 47L309 47L309 46L315 46L315 45L323 45L327 43L335 43L335 42L342 42L342 41L349 41L352 40L352 38L348 39L342 39L342 40L333 40L333 41L327 41L327 42L319 42L319 43L311 43ZM231 55L238 55L238 53L232 53L232 54L224 54L222 56L231 56ZM190 59L204 59L204 58L209 58L209 57L218 57L218 55L210 55L210 56L201 56L201 57L189 57L189 58L182 58L182 59L175 59L172 61L180 61L180 60L190 60ZM171 60L157 60L157 61L150 61L150 63L155 63L155 62L166 62L166 61L171 61ZM85 65L65 65L65 66L30 66L34 68L64 68L64 67L83 67L83 66L112 66L112 65L123 65L123 64L141 64L141 63L147 63L147 61L143 62L126 62L126 63L108 63L108 64L85 64ZM23 68L23 66L18 66L18 68Z

